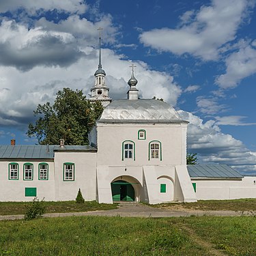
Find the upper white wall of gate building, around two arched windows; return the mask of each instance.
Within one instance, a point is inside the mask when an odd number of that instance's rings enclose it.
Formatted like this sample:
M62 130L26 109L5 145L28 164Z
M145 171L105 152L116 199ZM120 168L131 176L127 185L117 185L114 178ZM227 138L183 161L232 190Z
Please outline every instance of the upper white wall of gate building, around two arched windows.
M186 124L98 124L98 165L184 165ZM138 139L138 131L146 139ZM122 142L135 144L135 160L122 160ZM150 141L162 144L162 160L148 159Z

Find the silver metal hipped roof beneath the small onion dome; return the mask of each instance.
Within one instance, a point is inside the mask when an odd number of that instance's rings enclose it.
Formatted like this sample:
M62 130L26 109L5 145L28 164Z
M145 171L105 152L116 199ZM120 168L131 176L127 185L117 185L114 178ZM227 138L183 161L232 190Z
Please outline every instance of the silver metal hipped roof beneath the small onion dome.
M114 100L98 122L106 123L186 123L172 106L161 100Z

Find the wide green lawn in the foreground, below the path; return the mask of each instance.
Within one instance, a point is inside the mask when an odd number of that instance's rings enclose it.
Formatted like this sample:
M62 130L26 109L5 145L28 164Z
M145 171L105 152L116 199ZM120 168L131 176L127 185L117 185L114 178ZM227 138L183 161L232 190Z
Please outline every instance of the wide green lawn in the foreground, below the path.
M256 255L256 218L65 217L0 222L0 255Z

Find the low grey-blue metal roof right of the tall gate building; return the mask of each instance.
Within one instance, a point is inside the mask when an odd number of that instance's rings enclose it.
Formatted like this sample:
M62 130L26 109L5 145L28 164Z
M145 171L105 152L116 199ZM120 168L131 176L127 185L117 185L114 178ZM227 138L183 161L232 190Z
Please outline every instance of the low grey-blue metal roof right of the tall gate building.
M242 178L244 177L228 165L187 165L190 177Z

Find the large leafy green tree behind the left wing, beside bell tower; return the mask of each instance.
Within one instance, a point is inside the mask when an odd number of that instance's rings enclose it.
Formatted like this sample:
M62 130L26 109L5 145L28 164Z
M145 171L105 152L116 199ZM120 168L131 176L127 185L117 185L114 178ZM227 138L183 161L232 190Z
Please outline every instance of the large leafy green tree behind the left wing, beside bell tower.
M87 135L102 111L102 104L87 100L82 90L63 88L53 106L38 104L34 111L38 119L29 124L27 135L36 137L41 145L57 145L59 139L66 145L87 145Z

